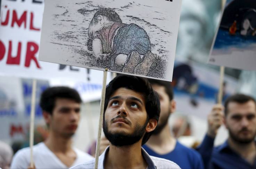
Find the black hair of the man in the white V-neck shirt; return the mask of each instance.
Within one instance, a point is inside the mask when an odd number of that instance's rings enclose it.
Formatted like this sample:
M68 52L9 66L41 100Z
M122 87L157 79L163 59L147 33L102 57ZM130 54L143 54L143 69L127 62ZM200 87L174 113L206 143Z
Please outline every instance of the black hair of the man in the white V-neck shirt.
M52 110L55 107L55 101L57 98L67 98L75 101L76 103L82 103L79 93L73 88L65 86L49 87L41 94L41 109L52 115Z

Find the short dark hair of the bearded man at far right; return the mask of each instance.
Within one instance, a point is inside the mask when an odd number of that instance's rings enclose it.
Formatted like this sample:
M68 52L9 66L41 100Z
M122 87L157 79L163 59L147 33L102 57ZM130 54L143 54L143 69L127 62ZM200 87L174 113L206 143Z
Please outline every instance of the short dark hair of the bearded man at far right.
M228 105L229 105L230 102L236 102L236 103L243 104L243 103L247 103L249 101L253 101L255 106L256 106L256 101L251 96L248 96L248 95L245 95L245 94L240 94L240 93L229 96L225 100L225 103L224 103L224 107L225 107L224 113L225 113L225 116L228 114Z

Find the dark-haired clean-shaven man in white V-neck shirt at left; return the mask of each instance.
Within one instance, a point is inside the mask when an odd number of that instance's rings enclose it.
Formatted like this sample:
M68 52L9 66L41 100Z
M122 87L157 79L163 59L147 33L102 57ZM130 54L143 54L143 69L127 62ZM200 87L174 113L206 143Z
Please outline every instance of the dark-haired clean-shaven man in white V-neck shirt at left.
M33 147L35 168L69 168L93 159L89 154L72 147L72 136L80 120L81 98L69 87L50 87L40 100L49 137ZM11 168L30 166L30 148L19 150Z

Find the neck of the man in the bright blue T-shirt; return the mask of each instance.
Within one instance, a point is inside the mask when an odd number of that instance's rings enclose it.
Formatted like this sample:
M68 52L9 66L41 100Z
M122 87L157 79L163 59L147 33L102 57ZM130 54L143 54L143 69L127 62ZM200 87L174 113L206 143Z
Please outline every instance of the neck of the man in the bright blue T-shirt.
M151 135L146 144L158 154L166 154L175 148L176 139L172 137L168 124L157 135Z

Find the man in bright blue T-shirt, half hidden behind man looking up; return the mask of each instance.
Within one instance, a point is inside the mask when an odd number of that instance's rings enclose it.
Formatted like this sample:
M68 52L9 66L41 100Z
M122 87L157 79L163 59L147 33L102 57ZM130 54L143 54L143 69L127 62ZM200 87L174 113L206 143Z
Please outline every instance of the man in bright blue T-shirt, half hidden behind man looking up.
M172 160L181 168L204 168L200 154L185 147L171 135L168 119L176 110L171 83L155 79L149 79L149 82L159 95L161 113L156 129L143 148L151 156Z

